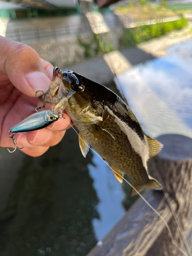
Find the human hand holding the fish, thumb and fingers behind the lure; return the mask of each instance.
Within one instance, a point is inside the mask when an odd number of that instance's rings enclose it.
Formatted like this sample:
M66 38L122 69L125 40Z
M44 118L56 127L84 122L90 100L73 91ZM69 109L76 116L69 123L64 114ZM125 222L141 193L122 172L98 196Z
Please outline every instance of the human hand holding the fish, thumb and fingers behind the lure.
M46 91L53 76L51 63L40 59L27 45L0 36L0 146L14 147L9 129L35 113L38 99L35 92ZM42 102L40 102L42 105ZM36 157L44 154L65 135L70 117L60 119L38 131L15 133L22 152Z

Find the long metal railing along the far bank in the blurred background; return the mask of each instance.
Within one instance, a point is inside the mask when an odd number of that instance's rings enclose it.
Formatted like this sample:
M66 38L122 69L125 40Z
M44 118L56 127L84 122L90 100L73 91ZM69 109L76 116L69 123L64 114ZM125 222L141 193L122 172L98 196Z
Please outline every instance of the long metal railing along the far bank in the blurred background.
M158 17L141 17L139 19L133 19L127 15L106 15L103 16L106 25L111 29L117 28L133 28L142 25L151 25L161 22L168 22L172 20L179 19L179 15L172 15L172 16L158 16ZM96 24L98 25L98 24ZM92 29L90 24L87 20L83 17L82 22L80 24L69 24L66 26L59 26L59 25L38 25L38 26L23 26L7 29L6 37L12 40L16 40L19 42L23 42L27 44L29 42L39 42L44 41L47 39L57 39L61 37L69 37L74 35L82 35L82 34L90 34L92 33Z

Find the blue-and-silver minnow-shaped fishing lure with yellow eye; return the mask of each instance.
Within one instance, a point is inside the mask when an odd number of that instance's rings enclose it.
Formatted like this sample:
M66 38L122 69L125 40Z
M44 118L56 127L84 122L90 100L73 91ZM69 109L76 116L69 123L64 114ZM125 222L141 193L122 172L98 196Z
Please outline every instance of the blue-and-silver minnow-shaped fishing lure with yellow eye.
M29 132L43 129L59 119L50 110L44 110L28 116L26 119L10 128L11 133Z

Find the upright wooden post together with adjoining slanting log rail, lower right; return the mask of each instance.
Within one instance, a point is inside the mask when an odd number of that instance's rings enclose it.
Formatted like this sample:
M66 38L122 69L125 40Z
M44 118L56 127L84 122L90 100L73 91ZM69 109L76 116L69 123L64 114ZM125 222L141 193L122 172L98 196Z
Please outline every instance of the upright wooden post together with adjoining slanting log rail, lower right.
M192 139L180 135L160 136L164 143L162 152L149 163L153 176L163 182L171 198L172 210L177 213L184 236L192 248ZM169 223L174 240L185 250L176 222L160 191L143 193L150 203ZM139 198L116 226L87 256L174 256L182 255L170 240L168 230L154 211Z

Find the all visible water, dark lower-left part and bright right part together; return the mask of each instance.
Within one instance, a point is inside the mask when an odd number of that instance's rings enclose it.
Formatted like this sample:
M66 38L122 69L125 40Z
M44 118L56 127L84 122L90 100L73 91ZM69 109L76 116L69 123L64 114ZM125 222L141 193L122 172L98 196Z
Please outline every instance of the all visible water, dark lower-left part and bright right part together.
M168 51L118 79L147 134L192 137L191 42ZM102 160L84 159L72 129L41 157L2 149L0 161L2 256L86 255L133 203Z

